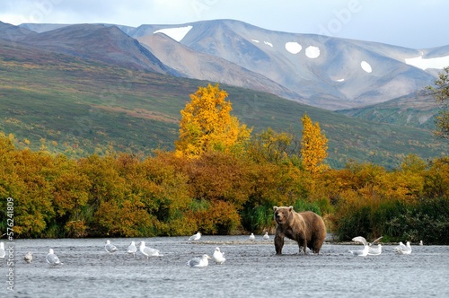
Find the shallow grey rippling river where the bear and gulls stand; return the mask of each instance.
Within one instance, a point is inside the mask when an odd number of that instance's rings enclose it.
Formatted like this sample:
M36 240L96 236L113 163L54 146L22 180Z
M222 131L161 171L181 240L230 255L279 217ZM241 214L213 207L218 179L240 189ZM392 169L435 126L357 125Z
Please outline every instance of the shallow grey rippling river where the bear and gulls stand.
M271 236L271 239L273 236ZM286 241L282 256L272 240L248 236L110 239L119 249L108 254L105 239L17 240L14 291L8 287L7 258L0 259L1 297L449 297L449 247L412 245L410 255L396 255L384 245L379 256L353 257L361 245L324 243L320 255L299 255ZM2 240L4 241L4 240ZM145 241L163 257L136 258L130 241ZM4 241L7 247L8 242ZM187 261L219 247L223 265L189 267ZM64 263L50 267L52 248ZM33 252L31 264L23 256Z

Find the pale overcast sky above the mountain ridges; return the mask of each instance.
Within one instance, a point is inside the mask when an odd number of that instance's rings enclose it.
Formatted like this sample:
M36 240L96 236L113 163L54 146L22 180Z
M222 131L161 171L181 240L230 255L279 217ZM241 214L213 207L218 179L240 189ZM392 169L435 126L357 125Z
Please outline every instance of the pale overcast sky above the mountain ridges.
M215 19L261 28L378 41L449 45L448 0L0 0L0 21L137 27Z

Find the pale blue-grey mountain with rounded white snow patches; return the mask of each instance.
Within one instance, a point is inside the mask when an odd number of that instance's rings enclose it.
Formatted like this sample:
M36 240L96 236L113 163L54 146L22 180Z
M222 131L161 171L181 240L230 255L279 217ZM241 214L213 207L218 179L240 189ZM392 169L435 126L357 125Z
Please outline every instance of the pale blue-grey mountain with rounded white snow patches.
M330 110L370 105L417 92L435 80L436 69L449 65L447 47L401 48L268 31L231 20L181 26L143 25L129 34L139 40L165 34L197 52L224 58L264 75L297 94L296 98L288 96L289 99ZM176 60L165 63L178 65ZM189 65L190 69L196 67L197 64ZM227 77L224 75L222 81Z

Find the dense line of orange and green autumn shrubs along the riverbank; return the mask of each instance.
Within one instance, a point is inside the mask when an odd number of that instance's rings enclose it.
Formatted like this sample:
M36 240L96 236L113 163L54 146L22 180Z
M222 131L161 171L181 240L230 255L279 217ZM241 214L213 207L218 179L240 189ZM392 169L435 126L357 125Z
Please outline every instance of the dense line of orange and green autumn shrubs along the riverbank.
M383 235L448 244L448 158L410 155L395 171L348 162L312 174L295 154L272 158L273 147L263 147L198 159L161 151L72 160L17 150L0 136L0 231L13 197L22 238L261 233L273 231L276 205L313 210L341 241Z

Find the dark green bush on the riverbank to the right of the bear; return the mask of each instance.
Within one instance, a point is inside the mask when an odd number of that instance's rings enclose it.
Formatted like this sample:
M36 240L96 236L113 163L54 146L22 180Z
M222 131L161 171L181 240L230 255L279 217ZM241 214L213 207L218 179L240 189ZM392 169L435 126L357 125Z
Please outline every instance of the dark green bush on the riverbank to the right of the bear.
M449 200L423 199L415 203L386 201L379 206L355 207L339 217L336 234L340 241L355 236L383 241L424 241L427 244L448 244Z

